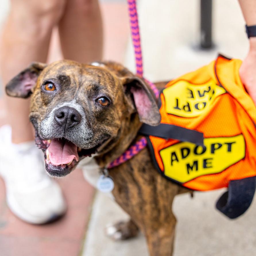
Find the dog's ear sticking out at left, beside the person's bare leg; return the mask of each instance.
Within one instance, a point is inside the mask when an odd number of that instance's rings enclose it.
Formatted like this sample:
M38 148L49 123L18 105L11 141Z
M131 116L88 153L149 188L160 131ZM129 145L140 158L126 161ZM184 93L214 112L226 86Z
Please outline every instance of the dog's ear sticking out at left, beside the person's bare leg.
M5 92L11 97L28 98L36 85L37 78L46 64L33 62L5 86Z

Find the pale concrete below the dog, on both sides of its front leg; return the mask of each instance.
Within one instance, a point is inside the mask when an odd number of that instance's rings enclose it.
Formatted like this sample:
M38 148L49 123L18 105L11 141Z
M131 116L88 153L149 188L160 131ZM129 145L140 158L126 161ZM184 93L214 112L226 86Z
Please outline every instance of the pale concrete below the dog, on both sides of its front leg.
M174 256L253 256L256 250L256 203L238 220L228 220L214 209L224 192L179 195L174 200L177 217ZM103 193L97 193L82 256L149 256L145 237L114 242L104 233L106 224L128 216ZM168 225L168 223L166 223Z

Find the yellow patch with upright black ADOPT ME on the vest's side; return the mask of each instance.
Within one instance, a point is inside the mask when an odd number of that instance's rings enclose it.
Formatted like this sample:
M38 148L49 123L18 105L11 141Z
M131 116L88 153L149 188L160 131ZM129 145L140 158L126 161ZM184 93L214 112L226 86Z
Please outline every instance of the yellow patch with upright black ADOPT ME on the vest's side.
M184 183L202 175L222 172L245 157L242 134L205 138L204 145L181 142L162 149L159 153L165 176Z

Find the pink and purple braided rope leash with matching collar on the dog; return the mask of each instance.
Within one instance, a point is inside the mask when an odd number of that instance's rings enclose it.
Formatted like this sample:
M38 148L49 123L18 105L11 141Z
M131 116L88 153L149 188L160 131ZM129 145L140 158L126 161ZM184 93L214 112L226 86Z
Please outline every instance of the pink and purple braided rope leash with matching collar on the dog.
M143 77L143 61L142 61L142 51L141 51L141 44L140 44L140 30L139 30L139 24L138 24L136 0L127 0L127 3L128 3L128 11L130 16L132 43L133 43L134 53L135 53L136 73L138 76ZM152 82L146 79L145 81L149 84L155 96L158 98L159 91L156 88L156 86ZM140 152L142 149L144 149L146 146L147 146L147 140L145 137L142 137L134 145L130 146L120 157L118 157L116 160L111 162L107 168L110 169L126 162L127 160L131 159L134 155L136 155L138 152Z

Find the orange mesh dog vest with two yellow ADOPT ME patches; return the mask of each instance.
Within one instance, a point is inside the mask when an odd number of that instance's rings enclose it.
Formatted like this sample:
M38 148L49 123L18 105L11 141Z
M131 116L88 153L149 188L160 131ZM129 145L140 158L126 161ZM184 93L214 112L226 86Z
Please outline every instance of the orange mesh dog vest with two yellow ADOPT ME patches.
M240 80L241 63L219 55L161 91L160 126L176 130L169 138L152 132L148 143L165 178L192 190L213 190L256 176L256 107ZM186 138L179 128L188 131ZM200 133L203 144L196 142Z

